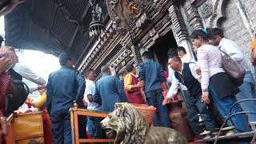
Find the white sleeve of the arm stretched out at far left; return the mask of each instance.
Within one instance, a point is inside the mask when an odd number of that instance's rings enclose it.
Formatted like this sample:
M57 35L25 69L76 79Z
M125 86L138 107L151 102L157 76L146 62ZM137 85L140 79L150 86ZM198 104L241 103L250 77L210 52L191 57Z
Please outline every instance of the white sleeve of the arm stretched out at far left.
M34 74L34 72L26 66L16 63L13 67L13 70L16 73L20 74L22 76L22 78L26 78L26 79L30 80L31 82L34 82L38 85L46 86L46 80L44 80L38 74Z

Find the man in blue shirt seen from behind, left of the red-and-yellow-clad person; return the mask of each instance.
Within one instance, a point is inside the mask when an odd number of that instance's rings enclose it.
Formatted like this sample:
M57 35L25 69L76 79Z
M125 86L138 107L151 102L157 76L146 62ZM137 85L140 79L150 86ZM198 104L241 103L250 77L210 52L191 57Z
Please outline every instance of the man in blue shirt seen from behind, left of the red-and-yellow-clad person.
M121 94L118 93L118 78L111 76L110 67L102 66L102 78L96 82L94 102L102 105L102 111L114 111L114 104L122 102Z

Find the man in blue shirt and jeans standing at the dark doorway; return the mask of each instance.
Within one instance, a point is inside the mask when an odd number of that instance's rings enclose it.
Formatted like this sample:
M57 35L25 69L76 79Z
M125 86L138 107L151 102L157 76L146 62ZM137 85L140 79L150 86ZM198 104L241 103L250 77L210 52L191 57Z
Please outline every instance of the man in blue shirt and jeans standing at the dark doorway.
M154 126L170 127L167 107L162 105L161 84L167 90L166 77L162 66L158 62L153 62L152 59L153 56L149 51L142 54L142 64L138 66L138 77L144 83L147 105L157 108L157 113L154 114Z

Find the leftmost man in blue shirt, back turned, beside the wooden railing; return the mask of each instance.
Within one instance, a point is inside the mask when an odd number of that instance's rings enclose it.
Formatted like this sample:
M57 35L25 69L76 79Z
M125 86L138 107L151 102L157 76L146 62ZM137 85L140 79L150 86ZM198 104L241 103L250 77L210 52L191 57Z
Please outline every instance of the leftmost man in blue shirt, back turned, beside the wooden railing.
M69 109L73 106L73 102L84 108L82 98L86 84L82 75L73 69L74 61L69 54L61 54L59 63L62 67L48 78L46 108L52 122L54 143L70 144L72 138ZM86 119L78 116L78 122L81 123L79 135L85 138Z

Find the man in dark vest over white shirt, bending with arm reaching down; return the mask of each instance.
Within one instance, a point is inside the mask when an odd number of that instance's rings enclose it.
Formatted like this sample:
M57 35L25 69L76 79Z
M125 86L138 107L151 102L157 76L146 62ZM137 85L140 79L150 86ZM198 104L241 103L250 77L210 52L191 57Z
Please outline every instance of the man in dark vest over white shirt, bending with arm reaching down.
M206 130L215 132L215 122L210 117L210 110L208 110L207 106L202 102L201 75L196 73L198 66L191 62L182 63L182 60L178 57L170 58L168 64L175 72L172 85L170 86L163 104L165 105L170 98L177 94L179 83L182 83L190 92L190 95L185 95L185 98L188 106L187 118L190 121L190 126L194 134L199 136L203 131L198 123L198 113L205 122ZM210 99L208 98L207 101L210 102Z

